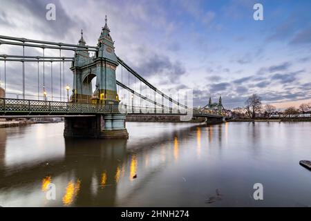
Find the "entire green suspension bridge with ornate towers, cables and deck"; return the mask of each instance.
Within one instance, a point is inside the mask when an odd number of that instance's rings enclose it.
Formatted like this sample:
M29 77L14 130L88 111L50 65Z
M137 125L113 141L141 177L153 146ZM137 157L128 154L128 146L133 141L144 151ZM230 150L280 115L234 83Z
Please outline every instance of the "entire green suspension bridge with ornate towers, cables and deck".
M22 50L22 55L0 55L4 66L0 117L64 117L65 137L97 138L128 137L126 115L180 115L184 117L183 120L189 120L192 116L219 120L225 117L222 104L212 108L211 104L203 108L192 108L192 94L189 91L178 93L176 98L150 84L115 55L114 41L107 20L105 21L97 46L86 45L83 32L78 44L0 35L0 47L16 46ZM25 48L42 50L42 54L26 55ZM58 51L58 55L46 56L46 50L53 50L54 55ZM71 51L74 56L65 56L64 51L67 54ZM10 86L7 83L7 66L12 62L21 63L21 95L8 92ZM28 62L37 63L37 86L34 87L37 91L34 93L32 90L31 94L26 93L25 64ZM65 63L71 64L70 70L73 73L70 95L70 86L65 86ZM56 65L59 65L57 73ZM118 78L117 66L121 69ZM36 74L32 73L32 77ZM59 76L57 82L53 81L55 75ZM55 86L59 91L53 89Z

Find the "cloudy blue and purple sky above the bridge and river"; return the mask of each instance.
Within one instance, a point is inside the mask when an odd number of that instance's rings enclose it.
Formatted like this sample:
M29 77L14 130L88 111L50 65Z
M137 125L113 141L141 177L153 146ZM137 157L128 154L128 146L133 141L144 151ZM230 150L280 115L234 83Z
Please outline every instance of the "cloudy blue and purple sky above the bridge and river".
M48 3L56 6L55 21L46 20ZM254 21L254 3L263 4L263 21ZM195 105L221 95L226 107L243 106L252 93L280 108L311 101L308 0L0 0L0 5L0 35L70 44L77 44L83 29L86 44L95 46L107 15L117 56L160 89L193 89ZM0 54L8 51L21 55L16 47L0 46ZM26 64L28 94L37 91L36 68ZM59 66L54 69L57 73ZM0 70L3 81L2 61ZM7 70L8 90L20 93L21 64L8 64ZM59 82L57 74L53 81ZM65 81L72 81L69 64Z

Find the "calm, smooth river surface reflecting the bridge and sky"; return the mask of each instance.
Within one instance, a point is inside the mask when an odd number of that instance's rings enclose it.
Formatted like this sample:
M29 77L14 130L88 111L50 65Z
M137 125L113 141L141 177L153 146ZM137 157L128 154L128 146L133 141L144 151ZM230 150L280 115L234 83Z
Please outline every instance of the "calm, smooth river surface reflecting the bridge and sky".
M311 160L310 122L126 127L129 140L65 140L62 123L0 128L0 205L311 206L299 165Z

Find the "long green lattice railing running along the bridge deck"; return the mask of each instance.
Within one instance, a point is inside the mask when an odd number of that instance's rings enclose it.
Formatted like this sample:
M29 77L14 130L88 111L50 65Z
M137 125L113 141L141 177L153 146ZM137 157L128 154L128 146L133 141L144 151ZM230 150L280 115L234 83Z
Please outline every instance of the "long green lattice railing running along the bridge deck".
M124 113L124 114L176 114L176 115L204 115L200 111L185 108L155 108L142 106L129 106L126 104L82 104L73 102L53 102L32 99L0 98L0 113ZM211 114L212 115L212 114ZM217 116L217 115L215 115Z

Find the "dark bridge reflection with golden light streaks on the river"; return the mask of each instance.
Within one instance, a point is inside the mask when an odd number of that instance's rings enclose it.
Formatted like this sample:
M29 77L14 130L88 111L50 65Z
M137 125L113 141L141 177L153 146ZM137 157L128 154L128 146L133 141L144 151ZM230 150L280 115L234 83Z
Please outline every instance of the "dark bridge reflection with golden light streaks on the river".
M178 128L176 124L167 123L147 127L147 133L149 130L154 134L149 139L136 131L133 140L89 140L64 139L57 131L62 124L37 124L22 128L21 142L37 140L23 149L12 146L19 128L3 128L0 131L0 200L3 203L6 199L3 206L122 204L123 199L131 198L131 194L140 188L138 186L153 179L165 165L178 162L178 140L181 137L184 137L183 141L187 140L189 131L196 128L189 123L179 125ZM140 127L138 124L135 130ZM42 146L44 139L50 145ZM52 154L46 148L50 151L54 148L56 152ZM37 155L28 159L28 154L35 152ZM56 200L46 200L49 184L56 185ZM31 202L23 204L28 199L32 199Z

